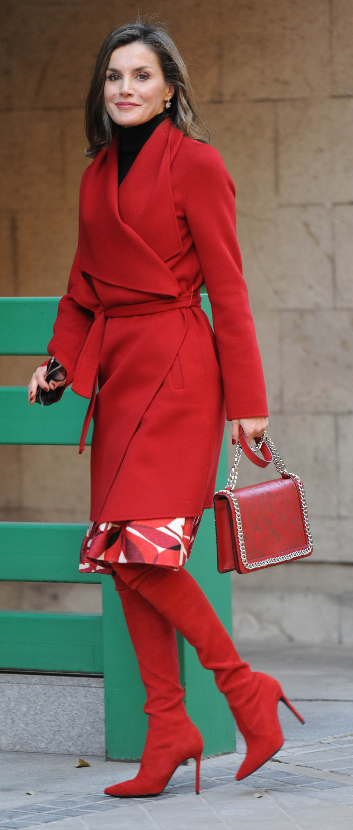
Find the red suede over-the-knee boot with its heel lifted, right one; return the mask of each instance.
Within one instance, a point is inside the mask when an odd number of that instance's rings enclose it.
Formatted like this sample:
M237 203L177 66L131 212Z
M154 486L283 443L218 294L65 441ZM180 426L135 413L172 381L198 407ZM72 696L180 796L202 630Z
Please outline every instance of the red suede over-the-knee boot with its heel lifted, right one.
M196 648L202 666L214 671L218 689L226 696L247 743L248 752L237 779L250 775L281 749L278 701L286 703L304 723L301 715L287 701L277 680L251 671L240 659L208 599L186 570L162 571L153 565L123 564L119 574Z

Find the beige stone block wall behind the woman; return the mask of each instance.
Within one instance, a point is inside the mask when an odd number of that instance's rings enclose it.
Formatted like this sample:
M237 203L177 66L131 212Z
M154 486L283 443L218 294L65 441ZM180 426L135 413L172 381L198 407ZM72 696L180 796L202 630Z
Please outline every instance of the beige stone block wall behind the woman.
M311 516L311 560L234 578L235 632L347 642L353 0L141 0L138 7L169 26L212 143L236 183L238 238L267 378L268 432L302 476ZM87 164L83 107L94 56L105 35L136 11L130 0L2 5L2 294L66 290ZM27 383L32 359L0 361L4 383ZM79 458L72 447L0 450L12 471L2 488L3 519L86 520L87 451ZM244 462L241 483L253 476ZM291 608L304 620L300 631Z

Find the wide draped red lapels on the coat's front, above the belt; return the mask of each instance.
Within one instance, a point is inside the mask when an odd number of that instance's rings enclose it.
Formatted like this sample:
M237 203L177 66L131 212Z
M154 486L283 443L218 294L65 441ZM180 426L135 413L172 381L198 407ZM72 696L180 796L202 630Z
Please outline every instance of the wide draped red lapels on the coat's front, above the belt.
M166 261L181 250L170 164L182 139L179 129L162 122L140 150L119 194L117 134L111 147L96 156L81 184L81 271L134 291L179 295Z

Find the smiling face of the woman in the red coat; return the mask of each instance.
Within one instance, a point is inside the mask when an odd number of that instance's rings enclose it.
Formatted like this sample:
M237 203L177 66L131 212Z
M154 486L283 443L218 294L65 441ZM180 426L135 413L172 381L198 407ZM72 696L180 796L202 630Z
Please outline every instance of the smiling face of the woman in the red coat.
M119 46L110 55L105 74L105 106L123 127L144 124L164 111L174 86L164 81L159 58L140 41Z

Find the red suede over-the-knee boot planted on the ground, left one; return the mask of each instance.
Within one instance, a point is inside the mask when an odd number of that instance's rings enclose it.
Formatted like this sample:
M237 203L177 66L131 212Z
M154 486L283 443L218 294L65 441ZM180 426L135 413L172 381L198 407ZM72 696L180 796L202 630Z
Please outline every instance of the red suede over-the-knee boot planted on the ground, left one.
M115 583L146 690L144 711L149 715L149 727L135 779L107 787L105 793L118 798L159 795L174 770L188 758L196 760L199 793L203 739L184 707L174 627L140 593L118 579Z

